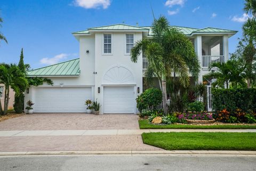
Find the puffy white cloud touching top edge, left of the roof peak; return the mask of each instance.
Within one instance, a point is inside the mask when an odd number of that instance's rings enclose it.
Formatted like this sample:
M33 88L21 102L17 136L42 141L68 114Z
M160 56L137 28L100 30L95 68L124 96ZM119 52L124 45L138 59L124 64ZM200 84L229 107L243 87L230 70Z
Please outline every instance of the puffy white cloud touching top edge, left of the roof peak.
M110 5L110 0L75 0L74 4L85 9L96 9L101 6L103 9L107 9Z

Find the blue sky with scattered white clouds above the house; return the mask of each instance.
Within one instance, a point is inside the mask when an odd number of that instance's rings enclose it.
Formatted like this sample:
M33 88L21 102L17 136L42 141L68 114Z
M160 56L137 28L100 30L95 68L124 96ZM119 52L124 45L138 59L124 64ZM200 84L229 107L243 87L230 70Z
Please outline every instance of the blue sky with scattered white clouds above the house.
M78 58L79 44L71 34L87 28L125 23L150 26L164 15L172 26L237 30L229 38L234 52L248 15L243 0L1 0L0 63L18 63L21 48L31 68Z

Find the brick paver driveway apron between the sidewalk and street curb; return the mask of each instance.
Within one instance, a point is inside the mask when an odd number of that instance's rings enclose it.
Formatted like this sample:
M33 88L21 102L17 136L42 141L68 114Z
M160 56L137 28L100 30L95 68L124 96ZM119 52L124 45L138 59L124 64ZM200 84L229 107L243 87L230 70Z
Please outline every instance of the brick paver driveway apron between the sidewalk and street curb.
M0 151L162 150L140 135L1 137Z

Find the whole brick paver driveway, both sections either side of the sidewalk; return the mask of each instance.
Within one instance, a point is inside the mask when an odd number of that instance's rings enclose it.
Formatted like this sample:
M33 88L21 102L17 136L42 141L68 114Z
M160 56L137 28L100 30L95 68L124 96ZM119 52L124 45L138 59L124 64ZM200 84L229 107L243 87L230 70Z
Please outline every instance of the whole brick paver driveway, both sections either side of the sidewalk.
M113 129L139 129L137 115L89 115L85 113L40 113L0 122L0 131L32 135L0 136L4 151L159 150L143 144L141 135L111 135ZM108 135L42 135L47 131L103 131ZM161 150L161 149L160 149Z

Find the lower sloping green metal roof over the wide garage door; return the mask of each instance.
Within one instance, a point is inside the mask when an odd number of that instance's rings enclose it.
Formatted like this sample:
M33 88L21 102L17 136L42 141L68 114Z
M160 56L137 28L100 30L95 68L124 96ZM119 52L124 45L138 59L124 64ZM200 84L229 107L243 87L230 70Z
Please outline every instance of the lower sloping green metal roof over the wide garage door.
M79 58L66 62L53 64L51 66L30 70L28 76L78 76L80 74Z

